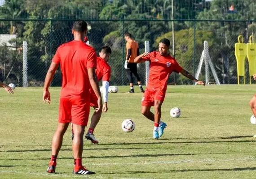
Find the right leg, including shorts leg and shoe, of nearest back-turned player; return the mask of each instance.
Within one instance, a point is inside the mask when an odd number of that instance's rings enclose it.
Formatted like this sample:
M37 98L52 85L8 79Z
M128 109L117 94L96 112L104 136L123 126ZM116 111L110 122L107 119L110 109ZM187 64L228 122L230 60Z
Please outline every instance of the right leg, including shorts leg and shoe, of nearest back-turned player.
M90 175L95 174L88 171L82 165L82 154L84 148L84 128L88 124L90 102L89 99L81 98L80 96L72 97L71 99L72 110L72 123L74 130L74 140L72 144L74 153L74 170L73 174Z

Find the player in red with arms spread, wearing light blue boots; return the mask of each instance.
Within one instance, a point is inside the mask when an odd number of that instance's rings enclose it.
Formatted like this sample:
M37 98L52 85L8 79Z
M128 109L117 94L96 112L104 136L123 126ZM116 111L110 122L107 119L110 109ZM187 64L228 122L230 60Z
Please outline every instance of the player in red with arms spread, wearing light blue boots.
M163 135L166 124L161 119L161 107L167 90L167 80L172 72L181 73L185 77L195 81L197 84L205 85L198 81L189 72L181 68L178 62L168 54L170 41L163 38L159 42L159 51L144 53L137 56L135 63L150 61L149 81L141 102L141 113L154 122L153 138L159 139ZM154 106L154 114L150 108Z

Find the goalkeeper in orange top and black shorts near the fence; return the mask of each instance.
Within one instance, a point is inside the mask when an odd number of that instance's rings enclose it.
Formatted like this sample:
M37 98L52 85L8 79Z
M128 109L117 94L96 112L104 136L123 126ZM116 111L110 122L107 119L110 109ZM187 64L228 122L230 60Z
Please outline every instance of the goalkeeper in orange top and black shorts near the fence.
M134 59L138 55L140 55L139 45L135 40L132 39L132 34L128 32L124 34L124 38L127 41L126 43L127 54L126 54L124 68L126 69L126 74L129 79L130 88L131 88L131 90L129 90L128 93L134 93L132 73L137 78L137 83L141 89L141 92L144 93L145 91L143 90L143 87L141 85L141 78L139 77L137 72L137 64L134 63Z

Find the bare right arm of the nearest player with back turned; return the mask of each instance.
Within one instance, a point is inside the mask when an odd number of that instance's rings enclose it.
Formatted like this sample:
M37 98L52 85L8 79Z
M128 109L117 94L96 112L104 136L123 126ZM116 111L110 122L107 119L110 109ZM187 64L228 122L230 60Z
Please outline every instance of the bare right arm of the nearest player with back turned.
M102 110L102 96L101 96L100 87L99 87L97 75L95 72L95 68L88 68L88 77L89 77L90 84L93 88L93 91L98 98L98 108L95 109L95 111L98 112L98 111Z

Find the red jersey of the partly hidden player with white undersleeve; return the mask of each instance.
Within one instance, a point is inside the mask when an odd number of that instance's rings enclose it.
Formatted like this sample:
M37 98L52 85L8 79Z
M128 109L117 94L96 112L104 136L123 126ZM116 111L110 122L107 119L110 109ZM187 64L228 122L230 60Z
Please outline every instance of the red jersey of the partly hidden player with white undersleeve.
M96 75L98 81L110 81L111 68L101 57L97 57Z

